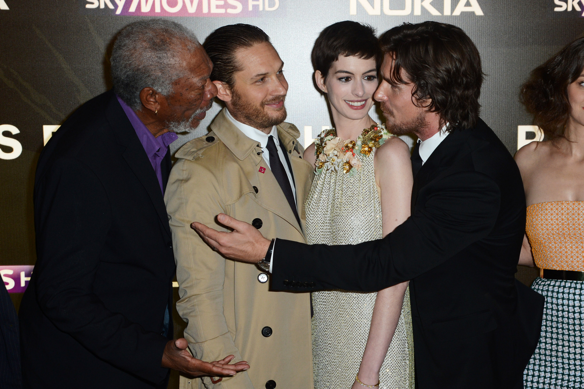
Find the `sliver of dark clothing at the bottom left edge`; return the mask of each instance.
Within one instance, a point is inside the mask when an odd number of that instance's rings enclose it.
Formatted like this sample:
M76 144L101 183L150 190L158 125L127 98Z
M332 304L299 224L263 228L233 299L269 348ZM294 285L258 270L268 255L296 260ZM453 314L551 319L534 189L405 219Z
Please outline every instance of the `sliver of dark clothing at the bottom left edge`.
M1 280L0 280L1 281ZM22 388L18 317L4 282L0 285L0 388Z

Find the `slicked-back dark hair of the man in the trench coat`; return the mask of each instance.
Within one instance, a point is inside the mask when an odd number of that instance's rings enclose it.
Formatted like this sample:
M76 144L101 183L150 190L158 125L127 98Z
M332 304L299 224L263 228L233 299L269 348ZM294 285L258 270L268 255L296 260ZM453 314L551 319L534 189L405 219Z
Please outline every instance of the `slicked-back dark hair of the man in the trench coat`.
M213 62L211 81L221 81L233 89L233 75L243 69L235 58L236 52L259 43L270 43L270 37L262 29L252 25L238 23L219 27L212 32L203 43Z

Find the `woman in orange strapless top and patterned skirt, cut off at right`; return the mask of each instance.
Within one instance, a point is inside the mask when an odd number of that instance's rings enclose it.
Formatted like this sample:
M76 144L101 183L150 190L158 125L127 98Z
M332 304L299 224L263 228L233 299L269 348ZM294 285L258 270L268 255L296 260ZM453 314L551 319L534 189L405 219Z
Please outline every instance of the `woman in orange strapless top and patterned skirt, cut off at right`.
M584 38L531 72L522 96L546 137L515 156L528 205L519 264L535 261L546 300L524 387L584 388Z

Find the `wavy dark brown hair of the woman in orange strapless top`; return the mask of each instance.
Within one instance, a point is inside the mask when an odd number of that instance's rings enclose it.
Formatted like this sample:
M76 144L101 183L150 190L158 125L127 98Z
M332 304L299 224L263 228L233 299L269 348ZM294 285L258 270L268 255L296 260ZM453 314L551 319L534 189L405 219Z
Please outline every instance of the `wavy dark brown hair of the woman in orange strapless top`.
M584 37L578 38L533 71L521 88L522 103L533 114L533 124L548 140L565 138L570 118L568 85L584 68Z

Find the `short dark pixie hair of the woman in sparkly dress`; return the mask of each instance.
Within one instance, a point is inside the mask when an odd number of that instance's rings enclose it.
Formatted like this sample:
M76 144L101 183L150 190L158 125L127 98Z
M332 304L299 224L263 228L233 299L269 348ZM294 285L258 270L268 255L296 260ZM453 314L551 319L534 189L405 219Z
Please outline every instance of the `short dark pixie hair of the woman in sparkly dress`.
M326 27L312 48L312 66L326 78L332 63L353 55L364 60L375 58L377 70L383 60L375 30L364 23L345 20Z

